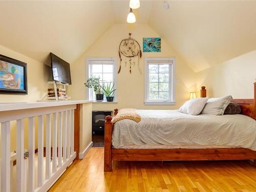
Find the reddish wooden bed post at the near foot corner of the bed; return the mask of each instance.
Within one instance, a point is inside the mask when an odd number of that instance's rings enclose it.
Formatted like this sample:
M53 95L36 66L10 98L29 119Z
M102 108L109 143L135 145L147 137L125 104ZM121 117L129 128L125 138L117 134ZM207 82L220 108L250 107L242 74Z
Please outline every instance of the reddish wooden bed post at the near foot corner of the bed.
M106 116L104 126L104 172L112 171L112 117Z

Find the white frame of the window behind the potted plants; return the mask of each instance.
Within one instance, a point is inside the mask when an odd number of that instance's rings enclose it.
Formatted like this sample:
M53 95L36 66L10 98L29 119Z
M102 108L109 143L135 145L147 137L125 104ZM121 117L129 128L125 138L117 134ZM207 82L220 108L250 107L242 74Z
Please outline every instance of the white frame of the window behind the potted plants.
M90 66L90 61L114 61L113 65L113 82L115 83L114 89L116 89L114 94L114 101L117 102L117 58L116 57L87 57L86 58L86 79L89 78L89 75L92 73L92 67ZM86 88L86 100L93 100L92 91L89 88ZM96 102L96 101L95 101ZM108 103L113 103L108 102ZM100 102L102 103L102 102Z

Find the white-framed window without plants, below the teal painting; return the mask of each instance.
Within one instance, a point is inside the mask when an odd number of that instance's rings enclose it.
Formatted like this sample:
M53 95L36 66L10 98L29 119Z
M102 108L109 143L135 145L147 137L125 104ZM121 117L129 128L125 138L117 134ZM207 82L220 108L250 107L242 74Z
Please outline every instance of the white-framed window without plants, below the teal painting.
M176 104L175 58L145 58L145 104Z

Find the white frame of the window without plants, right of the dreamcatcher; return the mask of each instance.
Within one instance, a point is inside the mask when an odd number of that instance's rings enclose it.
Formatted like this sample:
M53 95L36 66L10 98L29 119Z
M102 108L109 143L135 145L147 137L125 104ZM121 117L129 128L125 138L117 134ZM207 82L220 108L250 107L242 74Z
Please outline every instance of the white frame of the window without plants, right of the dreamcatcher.
M149 61L157 62L157 61L166 61L165 64L169 64L169 99L148 99L149 92L149 70L148 65ZM176 58L175 57L145 57L144 58L144 104L152 105L152 104L176 104Z

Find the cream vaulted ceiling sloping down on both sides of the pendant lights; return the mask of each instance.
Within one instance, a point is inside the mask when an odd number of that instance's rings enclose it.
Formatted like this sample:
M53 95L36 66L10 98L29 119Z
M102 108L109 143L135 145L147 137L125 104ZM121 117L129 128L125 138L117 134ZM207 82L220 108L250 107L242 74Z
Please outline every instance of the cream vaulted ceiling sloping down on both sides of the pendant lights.
M140 1L137 24L150 25L198 72L256 50L256 1ZM129 1L1 1L0 44L44 62L73 62L114 24Z

